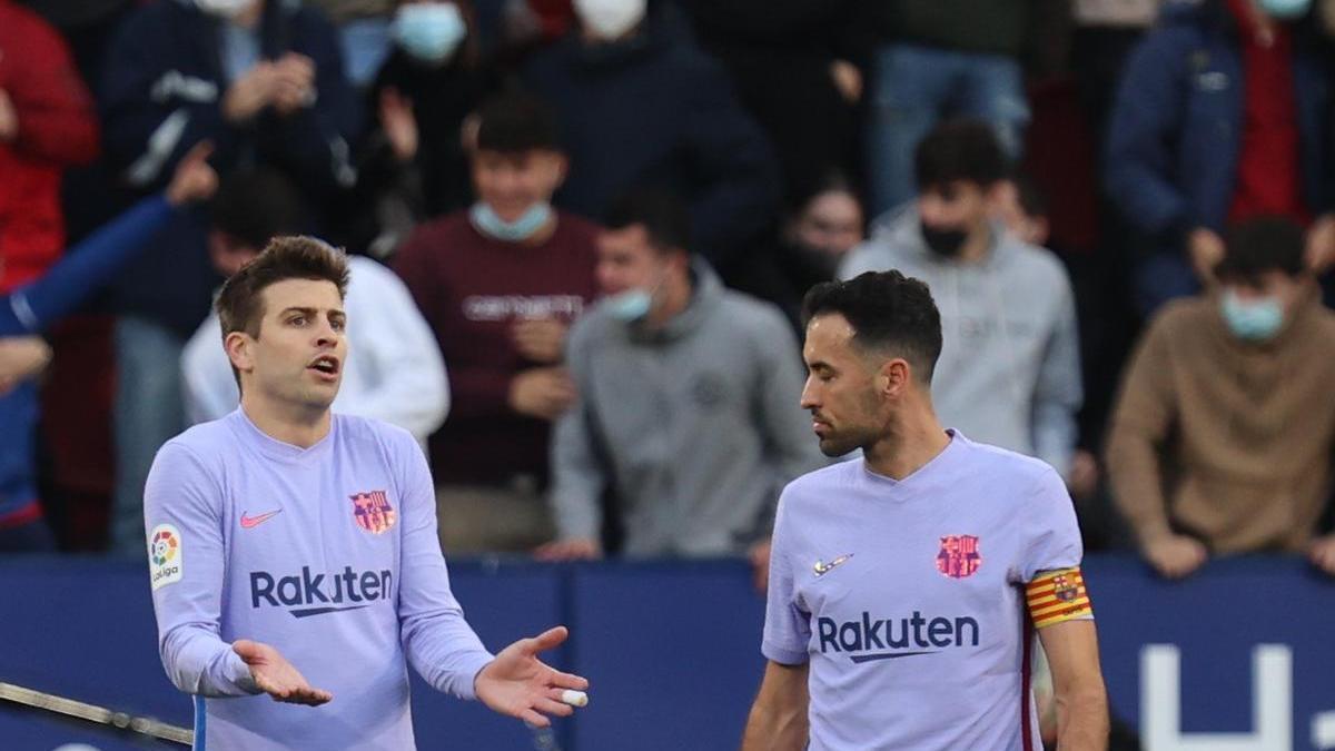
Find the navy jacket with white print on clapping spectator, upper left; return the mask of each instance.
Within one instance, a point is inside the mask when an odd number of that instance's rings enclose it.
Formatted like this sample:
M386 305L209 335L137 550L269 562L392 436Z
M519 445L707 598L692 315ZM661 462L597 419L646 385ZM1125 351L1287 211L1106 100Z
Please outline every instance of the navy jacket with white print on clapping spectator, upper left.
M107 52L99 91L108 156L136 192L160 190L176 162L200 140L215 143L222 175L262 163L287 172L314 199L351 186L348 143L358 127L356 96L343 76L338 35L318 11L268 0L260 55L299 52L315 63L315 103L290 118L264 111L248 127L223 120L228 80L222 25L191 0L164 0L131 13ZM208 313L218 278L206 250L203 212L183 212L115 285L120 313L188 337Z

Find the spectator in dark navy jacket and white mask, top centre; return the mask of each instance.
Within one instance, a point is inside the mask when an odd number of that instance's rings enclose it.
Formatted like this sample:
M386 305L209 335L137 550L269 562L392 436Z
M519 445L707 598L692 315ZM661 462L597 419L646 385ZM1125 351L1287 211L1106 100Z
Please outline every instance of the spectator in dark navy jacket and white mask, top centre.
M561 116L573 168L557 203L598 216L631 186L670 188L690 203L696 250L726 266L774 219L777 167L764 132L670 3L574 8L579 28L523 72Z

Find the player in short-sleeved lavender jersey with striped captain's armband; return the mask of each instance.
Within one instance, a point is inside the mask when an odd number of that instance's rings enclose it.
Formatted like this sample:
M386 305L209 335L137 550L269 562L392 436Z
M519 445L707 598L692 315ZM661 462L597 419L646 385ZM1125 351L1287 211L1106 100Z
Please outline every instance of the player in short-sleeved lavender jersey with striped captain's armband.
M806 297L802 408L826 456L784 490L745 751L1039 751L1037 628L1057 746L1107 748L1081 544L1047 464L945 430L926 285L868 273ZM808 746L809 743L809 746Z

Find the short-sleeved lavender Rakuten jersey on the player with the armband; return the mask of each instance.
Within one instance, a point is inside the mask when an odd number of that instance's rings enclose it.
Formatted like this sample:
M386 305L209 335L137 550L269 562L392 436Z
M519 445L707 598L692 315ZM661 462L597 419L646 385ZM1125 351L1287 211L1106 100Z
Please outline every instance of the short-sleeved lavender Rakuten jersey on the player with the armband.
M953 433L902 481L837 464L780 500L761 651L809 663L813 751L1036 751L1023 585L1080 557L1037 460Z

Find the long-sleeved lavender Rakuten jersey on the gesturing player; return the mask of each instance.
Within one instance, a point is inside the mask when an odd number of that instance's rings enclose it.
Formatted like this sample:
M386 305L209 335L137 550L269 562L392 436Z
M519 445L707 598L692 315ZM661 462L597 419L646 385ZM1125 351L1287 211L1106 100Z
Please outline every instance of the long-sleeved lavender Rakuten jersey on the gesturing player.
M195 748L413 748L405 656L461 698L491 659L450 592L430 472L402 429L334 416L299 449L236 410L162 448L144 525ZM236 639L274 645L334 700L256 695Z

